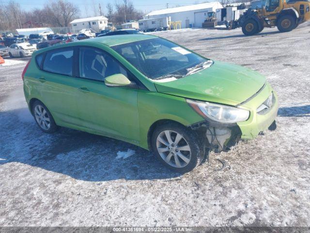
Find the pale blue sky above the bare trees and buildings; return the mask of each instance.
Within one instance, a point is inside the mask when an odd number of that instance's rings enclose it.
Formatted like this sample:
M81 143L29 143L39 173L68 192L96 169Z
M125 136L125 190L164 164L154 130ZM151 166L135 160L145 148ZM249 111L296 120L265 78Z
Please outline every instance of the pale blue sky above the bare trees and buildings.
M7 3L9 0L0 0L0 3ZM86 17L87 13L88 16L91 17L94 15L94 11L98 9L99 3L102 6L102 10L104 13L107 12L106 5L110 2L114 5L115 1L122 2L122 0L69 0L78 8L80 9L81 16ZM166 3L169 3L169 7L175 7L176 5L184 6L184 5L191 5L197 4L202 2L207 2L211 0L131 0L134 6L143 11L143 13L150 12L152 10L159 10L166 8ZM213 1L213 0L212 0ZM24 10L31 10L33 8L41 8L47 3L48 1L44 0L15 0L16 3L19 3L21 8ZM96 9L94 9L96 7Z

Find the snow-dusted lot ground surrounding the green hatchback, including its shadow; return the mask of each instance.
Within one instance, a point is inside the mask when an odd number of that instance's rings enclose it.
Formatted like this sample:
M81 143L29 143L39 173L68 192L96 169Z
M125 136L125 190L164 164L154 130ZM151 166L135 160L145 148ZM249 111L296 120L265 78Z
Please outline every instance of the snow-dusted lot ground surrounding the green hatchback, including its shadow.
M42 133L22 93L25 64L0 67L0 226L310 226L310 24L158 32L206 57L263 73L278 129L211 154L181 176L151 152L88 133ZM116 159L118 151L136 153ZM216 158L231 169L214 171Z

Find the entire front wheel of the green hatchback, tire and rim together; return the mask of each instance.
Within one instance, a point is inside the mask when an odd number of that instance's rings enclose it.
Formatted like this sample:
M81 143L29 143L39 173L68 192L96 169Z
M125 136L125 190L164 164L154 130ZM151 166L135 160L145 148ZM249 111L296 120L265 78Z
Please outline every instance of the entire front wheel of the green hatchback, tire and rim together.
M155 129L152 149L165 166L179 173L189 172L199 166L204 157L198 135L175 122L162 124Z

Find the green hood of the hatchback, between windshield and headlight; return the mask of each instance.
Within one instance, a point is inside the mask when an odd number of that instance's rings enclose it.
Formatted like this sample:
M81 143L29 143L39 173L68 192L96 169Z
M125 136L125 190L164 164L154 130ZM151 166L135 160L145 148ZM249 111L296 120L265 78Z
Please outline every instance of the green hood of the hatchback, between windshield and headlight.
M213 66L171 82L154 82L159 93L237 105L266 82L258 72L230 63L215 61Z

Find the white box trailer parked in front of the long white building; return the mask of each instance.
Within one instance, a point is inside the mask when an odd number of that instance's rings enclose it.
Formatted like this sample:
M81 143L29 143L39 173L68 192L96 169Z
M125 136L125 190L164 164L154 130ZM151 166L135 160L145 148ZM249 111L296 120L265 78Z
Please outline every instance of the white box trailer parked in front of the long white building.
M154 31L162 31L167 30L169 28L169 23L171 21L171 17L161 17L161 18L145 18L140 19L139 30L143 32L154 32Z

